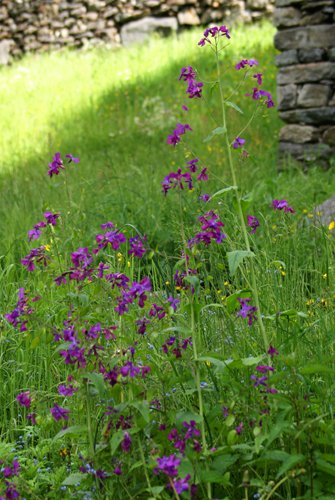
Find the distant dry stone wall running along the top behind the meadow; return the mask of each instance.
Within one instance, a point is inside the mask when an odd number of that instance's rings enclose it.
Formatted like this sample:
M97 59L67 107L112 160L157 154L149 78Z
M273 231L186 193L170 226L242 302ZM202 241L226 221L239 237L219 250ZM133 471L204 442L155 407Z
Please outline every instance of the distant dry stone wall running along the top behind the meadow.
M135 20L143 33L168 33L178 26L224 21L252 22L272 17L274 0L0 0L0 64L10 55L63 46L119 45L136 41ZM156 23L152 20L156 19ZM159 22L164 18L165 21ZM158 21L157 21L158 20ZM170 21L169 21L170 20ZM163 24L161 26L161 24ZM123 28L123 31L122 31ZM146 31L147 30L147 31ZM121 35L121 36L120 36ZM130 43L130 42L129 42Z

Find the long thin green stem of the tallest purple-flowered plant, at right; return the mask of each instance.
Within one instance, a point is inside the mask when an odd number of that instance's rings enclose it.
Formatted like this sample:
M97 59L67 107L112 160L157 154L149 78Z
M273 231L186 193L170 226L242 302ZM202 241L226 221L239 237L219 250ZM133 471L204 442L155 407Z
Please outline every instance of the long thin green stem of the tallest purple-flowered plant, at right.
M223 121L223 126L226 128L226 132L224 135L225 135L226 146L227 146L227 150L228 150L228 161L229 161L230 171L231 171L232 178L233 178L233 184L234 184L234 186L236 186L237 185L236 184L236 175L235 175L233 158L232 158L230 144L229 144L229 138L228 138L226 110L225 110L225 103L224 103L224 99L223 99L222 84L221 84L221 78L220 78L219 56L218 56L217 47L216 47L216 65L217 65L217 71L218 71L218 75L219 75L218 79L219 79L220 96L221 96L221 102L222 102L222 118L223 118L222 121ZM237 200L238 213L239 213L240 220L241 220L241 226L242 226L242 232L243 232L243 236L244 236L245 245L247 247L247 250L250 252L250 244L249 244L247 228L245 225L243 211L242 211L241 198L240 198L240 195L239 195L237 190L236 190L236 200ZM264 323L262 320L262 315L261 315L261 311L260 311L260 307L259 307L256 276L255 276L255 271L254 271L252 259L249 260L249 266L250 266L251 283L252 283L252 295L253 295L253 299L255 302L255 306L257 307L257 311L256 311L257 320L258 320L258 324L259 324L259 327L260 327L260 330L262 333L264 348L266 351L268 351L269 350L269 342L268 342L268 338L266 335L266 331L264 328ZM271 364L271 358L270 358L269 354L268 354L268 364L269 365Z

